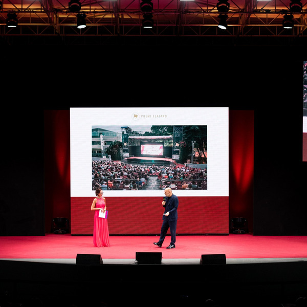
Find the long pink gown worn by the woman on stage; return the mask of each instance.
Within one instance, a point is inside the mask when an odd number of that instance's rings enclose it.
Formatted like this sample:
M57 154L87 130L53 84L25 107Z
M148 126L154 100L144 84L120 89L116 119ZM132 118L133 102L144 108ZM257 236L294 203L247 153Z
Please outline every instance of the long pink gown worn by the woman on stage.
M97 198L96 208L103 209L104 207L104 199ZM100 210L96 210L94 215L94 246L110 246L107 219L99 217L99 211Z

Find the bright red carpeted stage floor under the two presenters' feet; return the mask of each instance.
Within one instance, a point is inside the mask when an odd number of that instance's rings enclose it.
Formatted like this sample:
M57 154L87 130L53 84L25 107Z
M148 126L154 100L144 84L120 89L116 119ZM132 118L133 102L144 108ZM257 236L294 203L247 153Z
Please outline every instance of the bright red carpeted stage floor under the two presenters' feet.
M76 258L77 254L100 254L105 259L135 259L136 252L162 252L165 259L193 259L202 254L226 254L227 258L305 258L307 236L177 236L176 248L153 245L157 236L110 236L110 247L97 248L93 236L47 234L0 237L1 259Z

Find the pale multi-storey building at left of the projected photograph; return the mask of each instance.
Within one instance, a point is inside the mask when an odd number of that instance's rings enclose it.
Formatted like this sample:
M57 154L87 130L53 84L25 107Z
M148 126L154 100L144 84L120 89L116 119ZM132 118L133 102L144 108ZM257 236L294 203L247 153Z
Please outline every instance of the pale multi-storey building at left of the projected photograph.
M121 133L102 129L92 129L92 157L104 158L106 157L105 150L112 142L121 142Z

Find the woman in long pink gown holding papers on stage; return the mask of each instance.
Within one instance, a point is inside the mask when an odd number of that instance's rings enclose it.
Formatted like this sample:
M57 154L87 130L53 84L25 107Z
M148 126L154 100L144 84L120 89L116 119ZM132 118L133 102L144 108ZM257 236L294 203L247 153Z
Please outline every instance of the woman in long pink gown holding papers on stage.
M107 226L107 219L99 217L99 210L106 211L105 198L102 197L102 189L96 190L96 198L92 203L91 210L95 211L94 215L94 246L110 246L109 232Z

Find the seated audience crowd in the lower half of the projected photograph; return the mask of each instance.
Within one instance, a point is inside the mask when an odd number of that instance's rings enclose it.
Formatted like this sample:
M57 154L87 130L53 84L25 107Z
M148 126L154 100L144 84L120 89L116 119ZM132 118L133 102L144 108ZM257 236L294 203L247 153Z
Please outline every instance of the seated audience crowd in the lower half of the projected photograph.
M157 185L148 187L149 178ZM92 190L206 190L207 168L185 165L134 165L120 161L92 161Z

